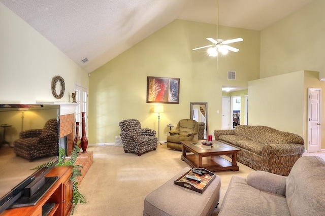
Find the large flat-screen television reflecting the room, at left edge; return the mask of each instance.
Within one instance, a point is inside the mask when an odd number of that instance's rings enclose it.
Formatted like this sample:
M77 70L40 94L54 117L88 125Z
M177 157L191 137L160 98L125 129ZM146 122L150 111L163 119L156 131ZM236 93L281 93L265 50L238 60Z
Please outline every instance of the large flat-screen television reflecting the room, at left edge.
M59 123L60 105L0 104L0 213L58 162Z

